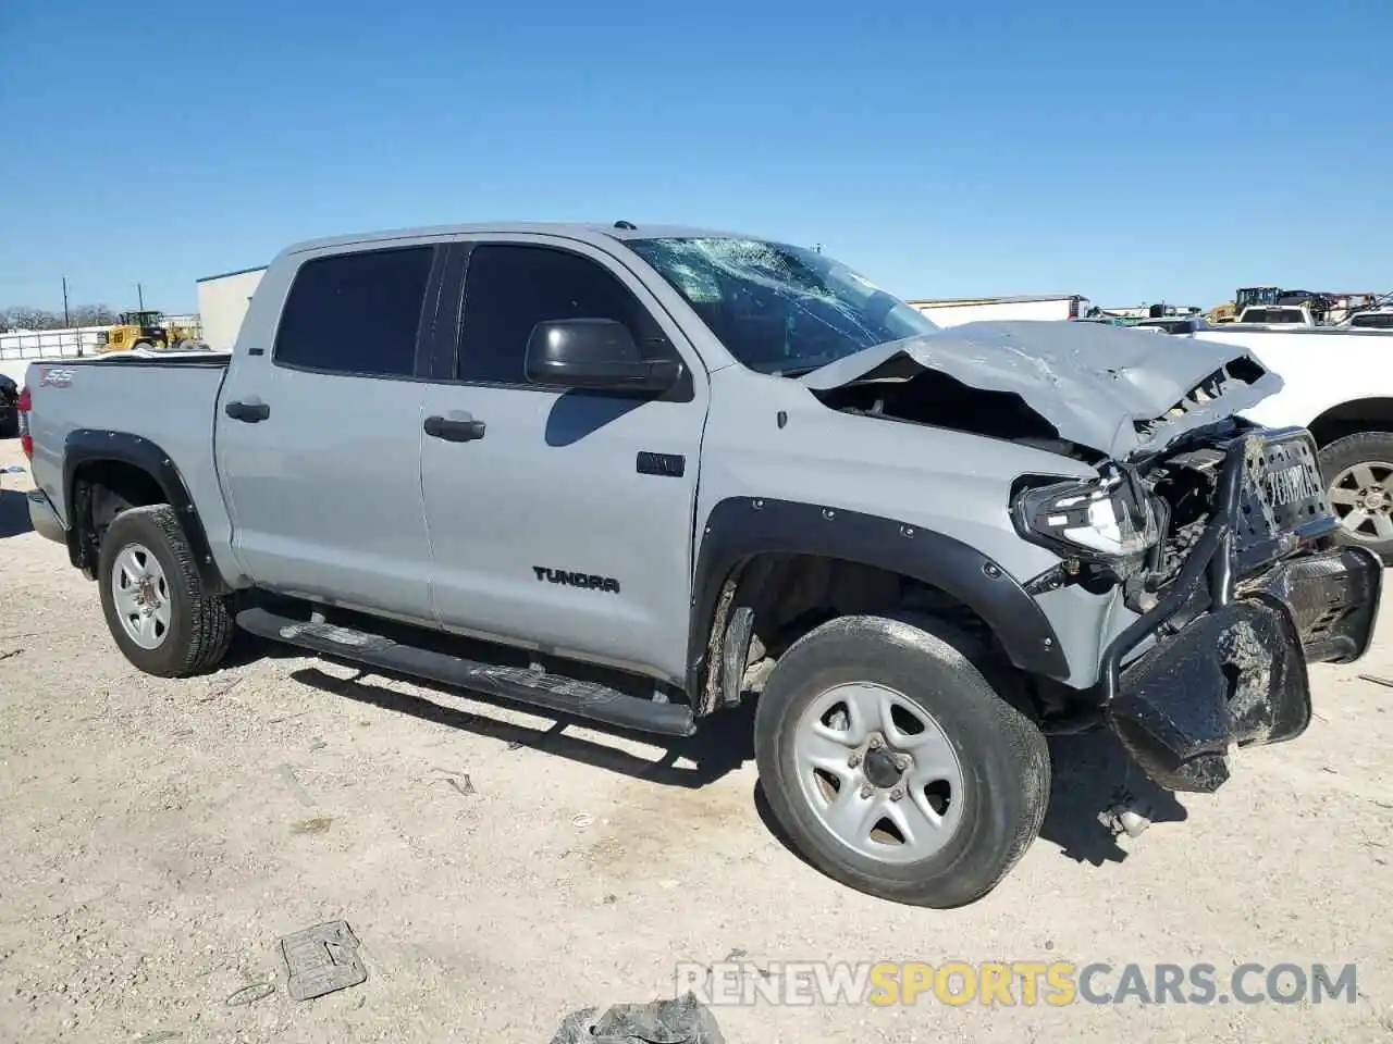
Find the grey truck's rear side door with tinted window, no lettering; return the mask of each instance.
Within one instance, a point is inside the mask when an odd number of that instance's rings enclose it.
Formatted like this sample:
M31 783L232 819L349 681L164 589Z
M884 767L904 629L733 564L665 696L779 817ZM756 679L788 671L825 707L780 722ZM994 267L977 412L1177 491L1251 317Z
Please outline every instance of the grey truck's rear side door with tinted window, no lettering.
M238 344L217 461L259 585L433 624L418 377L444 249L311 255L270 342Z

